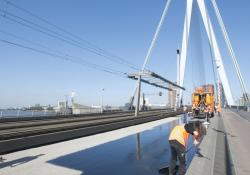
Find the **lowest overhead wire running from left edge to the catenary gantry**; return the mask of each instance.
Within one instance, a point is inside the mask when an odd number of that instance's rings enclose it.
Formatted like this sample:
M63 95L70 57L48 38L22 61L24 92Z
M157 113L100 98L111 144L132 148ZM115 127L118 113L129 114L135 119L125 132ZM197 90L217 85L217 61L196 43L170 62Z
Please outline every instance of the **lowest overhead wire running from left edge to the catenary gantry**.
M48 56L51 56L51 57L54 57L54 58L59 58L61 60L69 61L69 62L79 64L79 65L82 65L82 66L85 66L85 67L90 67L90 68L93 68L93 69L96 69L96 70L99 70L99 71L103 71L103 72L107 72L107 73L110 73L110 74L113 74L113 75L118 75L118 76L123 76L123 77L126 77L125 75L127 75L127 73L125 73L125 72L114 70L114 69L111 69L111 68L108 68L108 67L105 67L105 66L97 65L97 64L90 63L90 62L87 62L87 61L84 61L84 60L81 60L81 61L74 60L74 59L70 58L70 56L67 57L67 56L63 56L63 55L58 55L58 54L55 54L55 53L51 53L51 52L48 52L48 51L45 51L45 50L33 48L33 47L30 47L30 46L26 46L26 45L16 43L16 42L12 42L12 41L9 41L9 40L0 39L0 42L8 44L8 45L16 46L16 47L19 47L19 48L31 50L33 52L38 52L38 53L48 55Z

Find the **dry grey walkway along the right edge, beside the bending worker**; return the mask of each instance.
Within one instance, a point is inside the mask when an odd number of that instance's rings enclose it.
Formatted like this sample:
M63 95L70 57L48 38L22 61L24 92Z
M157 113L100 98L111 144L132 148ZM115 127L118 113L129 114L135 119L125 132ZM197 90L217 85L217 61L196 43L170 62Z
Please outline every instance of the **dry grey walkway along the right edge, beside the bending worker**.
M250 122L247 118L250 113L224 110L222 117L212 119L199 154L192 160L187 174L250 174Z

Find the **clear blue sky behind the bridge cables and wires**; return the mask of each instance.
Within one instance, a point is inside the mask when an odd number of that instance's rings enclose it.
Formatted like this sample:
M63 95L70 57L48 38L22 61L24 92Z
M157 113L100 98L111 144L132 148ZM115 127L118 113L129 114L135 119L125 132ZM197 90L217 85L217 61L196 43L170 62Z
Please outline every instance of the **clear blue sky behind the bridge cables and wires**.
M141 67L143 63L166 3L165 0L12 0L12 2L138 67ZM248 91L250 91L250 77L248 76L250 66L250 36L248 33L250 31L250 1L217 0L217 3ZM207 6L216 30L233 95L238 98L241 95L241 89L231 59L227 53L218 24L214 20L215 16L211 4L207 3ZM0 0L0 9L56 30L11 5L7 5L3 0ZM181 43L184 13L185 1L172 1L159 40L148 64L148 69L172 81L176 79L176 48ZM202 23L200 22L200 24ZM191 29L190 42L192 43L197 40L195 35L197 31L195 27L197 26L196 23ZM204 55L201 58L205 64L205 73L201 75L200 70L195 69L199 67L198 63L201 60L197 56L199 45L193 44L192 48L189 49L189 61L184 83L185 87L189 89L185 93L185 101L190 101L190 92L194 85L200 83L197 80L200 80L201 77L206 77L205 81L203 80L204 82L213 83L207 37L203 26L200 26ZM64 54L83 58L88 62L122 72L135 71L127 66L113 63L104 57L13 23L2 16L0 17L0 30L18 35L50 49L59 50ZM0 39L43 49L1 32ZM102 88L105 89L103 92L105 104L123 105L132 95L135 86L135 82L132 80L48 55L1 42L0 48L0 78L2 82L0 107L28 106L36 103L55 105L58 100L63 100L70 91L76 92L77 102L85 105L98 105ZM156 93L160 89L143 85L143 91L145 93ZM162 97L150 96L151 102L165 102L167 92L163 93Z

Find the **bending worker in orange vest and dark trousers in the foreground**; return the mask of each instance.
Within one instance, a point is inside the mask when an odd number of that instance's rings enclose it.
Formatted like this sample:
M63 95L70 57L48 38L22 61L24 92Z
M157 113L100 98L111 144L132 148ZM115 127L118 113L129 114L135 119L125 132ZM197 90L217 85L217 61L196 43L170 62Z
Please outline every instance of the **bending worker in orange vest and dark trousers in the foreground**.
M201 136L201 123L188 123L177 125L173 128L169 136L169 144L171 149L171 161L169 166L169 174L175 175L177 173L176 170L176 162L177 158L179 160L179 175L184 175L186 173L186 147L189 135L194 136L194 145L199 144L200 136Z

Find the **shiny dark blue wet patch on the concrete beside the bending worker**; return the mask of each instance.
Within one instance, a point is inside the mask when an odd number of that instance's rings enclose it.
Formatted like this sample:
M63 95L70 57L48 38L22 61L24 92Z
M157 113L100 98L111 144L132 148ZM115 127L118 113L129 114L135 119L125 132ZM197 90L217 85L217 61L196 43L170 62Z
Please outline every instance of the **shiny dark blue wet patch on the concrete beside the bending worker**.
M156 175L158 168L170 159L169 132L184 120L187 118L180 117L152 130L58 157L49 163L81 171L84 175ZM192 138L189 143L192 144ZM194 153L195 149L188 152L188 164Z

